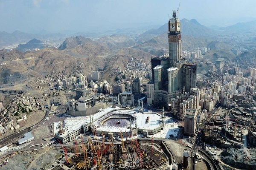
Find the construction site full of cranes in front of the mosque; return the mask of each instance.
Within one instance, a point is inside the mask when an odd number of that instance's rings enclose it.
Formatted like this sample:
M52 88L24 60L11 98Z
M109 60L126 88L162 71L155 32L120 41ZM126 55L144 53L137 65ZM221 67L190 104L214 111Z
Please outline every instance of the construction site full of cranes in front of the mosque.
M59 161L73 170L147 170L167 167L168 156L159 144L153 142L153 137L144 141L136 138L124 141L120 133L120 139L115 142L105 140L105 136L98 139L97 136L81 135L81 144L74 142L75 154L68 154L67 147L61 144L64 156ZM80 153L78 150L81 149Z

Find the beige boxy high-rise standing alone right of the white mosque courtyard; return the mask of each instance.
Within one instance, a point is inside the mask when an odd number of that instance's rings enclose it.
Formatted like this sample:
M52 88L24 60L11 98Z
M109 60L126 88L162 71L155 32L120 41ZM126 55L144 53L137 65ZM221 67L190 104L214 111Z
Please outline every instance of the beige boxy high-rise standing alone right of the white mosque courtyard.
M196 127L196 109L187 109L184 116L184 133L194 136Z

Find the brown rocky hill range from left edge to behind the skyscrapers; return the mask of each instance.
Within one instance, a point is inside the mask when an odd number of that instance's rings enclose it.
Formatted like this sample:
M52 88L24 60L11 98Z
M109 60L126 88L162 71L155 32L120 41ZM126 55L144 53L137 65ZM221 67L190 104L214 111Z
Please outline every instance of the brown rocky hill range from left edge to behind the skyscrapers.
M104 43L84 37L71 37L65 41L65 45L62 47L69 48L64 50L56 48L26 52L16 49L9 52L0 50L0 84L23 83L31 77L44 77L52 71L66 71L75 74L78 66L84 74L103 70L103 75L106 76L103 76L102 79L111 81L111 73L108 72L108 69L125 68L129 56L144 58L148 61L151 57L151 54L137 49L111 50ZM70 48L72 45L75 46L70 42L80 43L80 45Z

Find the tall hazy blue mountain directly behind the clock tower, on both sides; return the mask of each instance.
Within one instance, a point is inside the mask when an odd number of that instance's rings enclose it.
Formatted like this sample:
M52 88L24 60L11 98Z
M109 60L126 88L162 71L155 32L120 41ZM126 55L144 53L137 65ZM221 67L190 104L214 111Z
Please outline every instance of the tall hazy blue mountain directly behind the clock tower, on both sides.
M214 39L218 31L207 28L198 23L197 20L180 20L182 50L192 50L193 48L206 47ZM160 49L168 49L168 23L158 29L151 29L139 36L138 42L133 48L157 54ZM213 44L213 43L212 43ZM215 46L215 45L210 45ZM215 48L217 48L216 45Z

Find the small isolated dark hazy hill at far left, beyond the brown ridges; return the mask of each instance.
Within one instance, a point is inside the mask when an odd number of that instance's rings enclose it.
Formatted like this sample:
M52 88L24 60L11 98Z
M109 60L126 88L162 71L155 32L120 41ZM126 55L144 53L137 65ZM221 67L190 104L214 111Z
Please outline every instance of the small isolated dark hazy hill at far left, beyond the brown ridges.
M35 48L42 49L46 47L49 47L49 45L34 38L33 40L30 40L26 44L18 45L16 49L19 51L34 51Z

